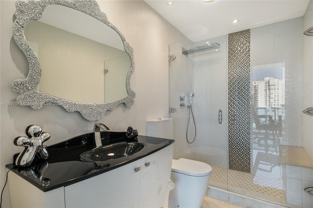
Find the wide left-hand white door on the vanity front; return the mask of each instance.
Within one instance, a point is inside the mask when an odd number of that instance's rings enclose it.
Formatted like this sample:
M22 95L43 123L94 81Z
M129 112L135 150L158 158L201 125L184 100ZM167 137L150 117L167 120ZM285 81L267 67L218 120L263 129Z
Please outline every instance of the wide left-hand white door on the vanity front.
M67 208L137 208L140 160L65 187Z

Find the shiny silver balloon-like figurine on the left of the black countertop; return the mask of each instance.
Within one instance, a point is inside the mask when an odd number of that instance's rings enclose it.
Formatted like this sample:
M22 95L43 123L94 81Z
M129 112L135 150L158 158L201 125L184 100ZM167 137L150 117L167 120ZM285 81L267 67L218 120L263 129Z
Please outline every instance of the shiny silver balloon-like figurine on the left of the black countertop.
M35 159L48 159L48 151L43 146L43 143L50 139L50 134L43 132L40 125L29 125L25 130L27 137L17 137L14 139L14 145L24 146L24 150L18 155L15 160L17 166L29 166Z

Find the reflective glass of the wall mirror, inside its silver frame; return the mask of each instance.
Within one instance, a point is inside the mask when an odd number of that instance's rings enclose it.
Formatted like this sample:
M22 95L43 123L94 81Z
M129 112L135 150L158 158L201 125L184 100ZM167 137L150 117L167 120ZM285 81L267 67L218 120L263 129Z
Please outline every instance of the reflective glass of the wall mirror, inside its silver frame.
M103 22L50 5L40 21L27 23L24 35L42 69L37 90L79 103L127 97L131 60L119 35Z

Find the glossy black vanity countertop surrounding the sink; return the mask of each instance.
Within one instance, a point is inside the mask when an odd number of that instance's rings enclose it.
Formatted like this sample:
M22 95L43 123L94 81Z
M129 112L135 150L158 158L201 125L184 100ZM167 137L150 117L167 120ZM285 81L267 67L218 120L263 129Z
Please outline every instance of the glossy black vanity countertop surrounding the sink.
M125 132L101 132L101 138L106 138L102 140L102 146L126 142L123 133ZM95 144L94 133L83 134L48 146L49 158L46 161L36 160L27 167L14 166L13 163L6 167L42 191L49 191L124 166L174 143L174 140L141 135L137 136L137 140L144 147L133 155L106 161L84 162L80 154L95 148Z

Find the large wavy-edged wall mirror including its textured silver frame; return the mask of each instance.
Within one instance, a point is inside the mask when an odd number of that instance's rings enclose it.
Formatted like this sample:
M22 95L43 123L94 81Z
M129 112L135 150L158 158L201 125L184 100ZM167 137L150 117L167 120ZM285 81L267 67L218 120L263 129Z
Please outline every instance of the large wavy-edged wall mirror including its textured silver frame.
M95 0L19 0L16 8L13 37L29 62L26 79L12 83L19 104L61 105L96 121L134 103L133 49Z

